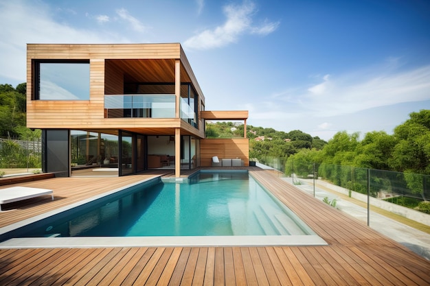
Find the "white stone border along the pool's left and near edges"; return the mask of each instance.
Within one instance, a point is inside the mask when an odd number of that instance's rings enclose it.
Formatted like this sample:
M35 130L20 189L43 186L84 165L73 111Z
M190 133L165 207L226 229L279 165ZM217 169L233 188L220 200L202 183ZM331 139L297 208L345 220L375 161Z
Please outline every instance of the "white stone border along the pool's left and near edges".
M86 200L69 204L54 211L36 215L21 222L0 228L0 235L71 208L93 202L107 195L123 191L137 184L157 180L148 178L124 187L95 195ZM258 181L257 181L258 182ZM231 235L231 236L181 236L181 237L20 237L0 243L0 249L10 248L113 248L113 247L173 247L173 246L326 246L318 235Z

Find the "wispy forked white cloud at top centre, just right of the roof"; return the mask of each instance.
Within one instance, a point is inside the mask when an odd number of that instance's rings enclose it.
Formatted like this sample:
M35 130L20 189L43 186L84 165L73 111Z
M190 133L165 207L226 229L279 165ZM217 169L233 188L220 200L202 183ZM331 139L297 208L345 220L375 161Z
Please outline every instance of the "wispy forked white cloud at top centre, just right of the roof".
M241 34L269 34L278 28L279 23L264 21L260 26L252 25L256 5L245 1L242 5L226 5L223 8L227 20L214 29L205 29L200 34L185 40L184 47L190 49L213 49L235 43Z

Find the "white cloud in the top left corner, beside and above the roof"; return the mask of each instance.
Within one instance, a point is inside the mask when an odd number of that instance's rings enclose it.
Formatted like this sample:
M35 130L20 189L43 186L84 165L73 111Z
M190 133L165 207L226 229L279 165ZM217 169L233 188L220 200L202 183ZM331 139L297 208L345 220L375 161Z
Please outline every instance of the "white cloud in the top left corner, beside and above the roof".
M24 82L27 43L127 43L122 35L78 29L52 19L54 10L37 1L0 1L0 77ZM7 56L5 56L7 55Z

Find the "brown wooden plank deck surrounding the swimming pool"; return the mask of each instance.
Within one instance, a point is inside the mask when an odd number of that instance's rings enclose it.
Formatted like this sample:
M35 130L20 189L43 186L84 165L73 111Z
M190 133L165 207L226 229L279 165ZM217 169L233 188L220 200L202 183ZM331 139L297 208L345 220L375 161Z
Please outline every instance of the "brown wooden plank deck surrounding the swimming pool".
M0 285L430 285L430 261L270 171L248 169L329 245L0 250ZM22 183L54 189L54 202L2 212L0 226L154 175Z

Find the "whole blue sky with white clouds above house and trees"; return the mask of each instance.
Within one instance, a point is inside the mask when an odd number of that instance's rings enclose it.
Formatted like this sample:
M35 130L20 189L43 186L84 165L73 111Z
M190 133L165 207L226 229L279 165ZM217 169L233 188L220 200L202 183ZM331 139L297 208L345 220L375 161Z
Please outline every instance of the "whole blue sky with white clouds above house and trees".
M0 83L26 43L181 43L207 110L328 140L430 109L427 0L0 0Z

